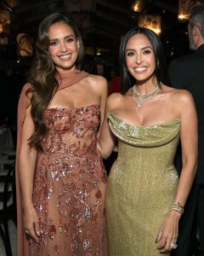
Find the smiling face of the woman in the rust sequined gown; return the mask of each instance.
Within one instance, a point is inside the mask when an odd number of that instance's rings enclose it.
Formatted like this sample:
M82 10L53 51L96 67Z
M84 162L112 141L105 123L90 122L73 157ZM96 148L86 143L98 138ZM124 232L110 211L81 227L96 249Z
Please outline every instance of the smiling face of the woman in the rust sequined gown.
M56 69L76 69L79 42L75 33L65 23L54 23L48 30L48 54Z

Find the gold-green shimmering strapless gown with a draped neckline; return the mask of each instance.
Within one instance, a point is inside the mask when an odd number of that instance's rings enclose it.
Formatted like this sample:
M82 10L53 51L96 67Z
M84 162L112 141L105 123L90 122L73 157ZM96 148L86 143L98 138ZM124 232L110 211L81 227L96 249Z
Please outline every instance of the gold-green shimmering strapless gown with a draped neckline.
M113 113L108 118L118 137L105 204L110 256L161 255L156 236L178 186L173 158L180 120L136 126Z

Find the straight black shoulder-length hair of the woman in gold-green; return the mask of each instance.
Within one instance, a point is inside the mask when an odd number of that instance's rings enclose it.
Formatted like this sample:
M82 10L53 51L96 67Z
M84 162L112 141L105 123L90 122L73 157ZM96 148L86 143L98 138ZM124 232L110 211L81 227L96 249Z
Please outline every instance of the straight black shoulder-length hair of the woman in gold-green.
M126 45L127 41L132 38L136 34L144 34L149 40L150 44L152 45L153 53L155 55L156 61L156 69L155 75L157 81L161 81L163 84L168 84L167 78L167 64L165 60L165 55L163 52L162 44L160 38L156 35L155 32L151 31L149 28L146 27L134 27L130 31L126 33L124 38L122 38L122 43L120 46L119 52L119 62L120 62L120 73L122 79L121 85L121 93L125 95L127 90L135 84L135 79L133 76L128 72L127 65L126 65Z

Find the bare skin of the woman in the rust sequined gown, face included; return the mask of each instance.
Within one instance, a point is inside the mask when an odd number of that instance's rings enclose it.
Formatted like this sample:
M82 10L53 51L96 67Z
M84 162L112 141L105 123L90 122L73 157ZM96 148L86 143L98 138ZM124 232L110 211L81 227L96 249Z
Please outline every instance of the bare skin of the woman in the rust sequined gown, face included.
M76 61L80 45L71 26L62 22L53 24L49 27L48 38L50 40L48 54L52 61L54 61L56 70L76 70ZM48 108L82 108L84 106L99 105L102 124L106 96L106 80L103 77L88 74L88 76L82 79L78 84L73 84L70 87L57 91ZM20 185L23 196L25 229L28 235L38 242L40 230L37 212L32 204L32 188L37 161L37 150L30 148L28 144L28 139L33 134L34 129L30 107L26 109L26 119L22 128ZM101 185L101 190L102 194L105 195L105 184Z

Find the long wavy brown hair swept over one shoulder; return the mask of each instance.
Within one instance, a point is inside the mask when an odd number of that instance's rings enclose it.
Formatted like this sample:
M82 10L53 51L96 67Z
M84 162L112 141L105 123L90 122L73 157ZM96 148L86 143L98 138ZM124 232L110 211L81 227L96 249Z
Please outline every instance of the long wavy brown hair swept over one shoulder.
M45 109L48 108L48 104L59 86L58 81L55 79L57 70L55 69L54 62L48 55L48 30L50 26L60 22L71 26L71 29L79 41L80 48L78 50L76 67L77 69L80 69L81 67L83 44L77 28L73 26L71 20L65 15L48 15L42 20L38 28L35 61L33 61L28 75L28 81L32 86L27 93L31 92L32 94L31 117L35 125L35 131L29 139L29 144L34 148L41 148L40 143L47 131L46 125L43 122L43 113Z

